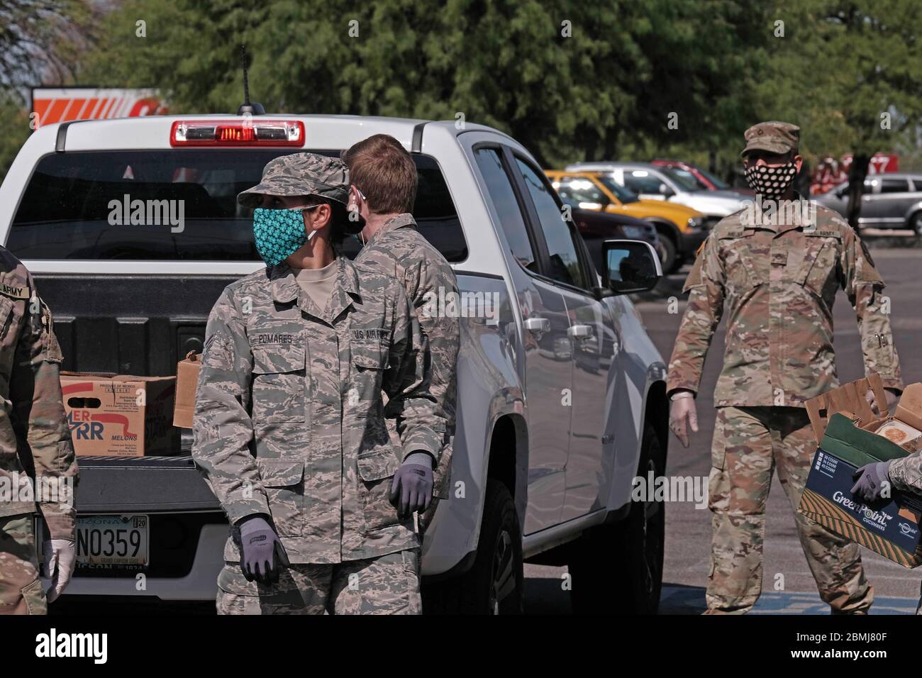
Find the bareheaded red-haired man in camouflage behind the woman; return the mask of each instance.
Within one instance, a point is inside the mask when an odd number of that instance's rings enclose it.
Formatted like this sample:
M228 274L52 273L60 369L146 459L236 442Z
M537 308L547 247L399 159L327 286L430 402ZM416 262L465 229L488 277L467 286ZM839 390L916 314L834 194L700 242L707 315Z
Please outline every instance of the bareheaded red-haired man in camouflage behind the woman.
M384 271L403 284L420 321L431 357L430 393L446 425L446 436L434 472L436 499L421 517L423 529L431 521L438 498L448 498L452 438L457 395L458 319L427 312L432 301L457 294L457 280L445 257L417 231L410 211L416 199L416 163L394 137L379 134L355 144L342 154L349 166L350 208L361 215L365 241L355 261ZM420 456L423 466L435 458Z

